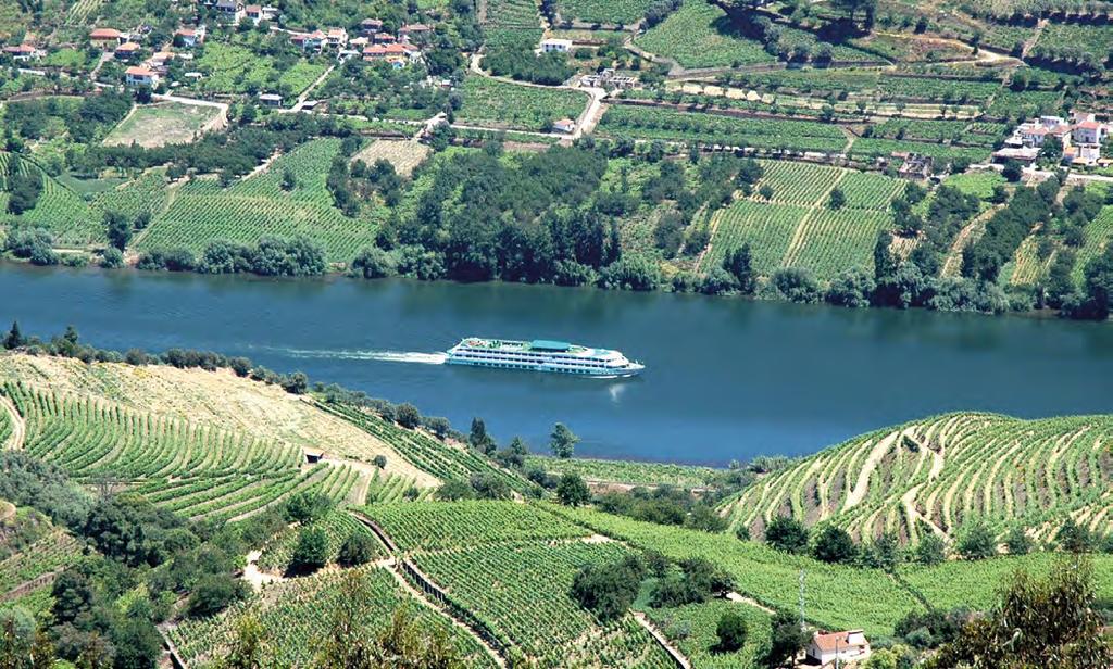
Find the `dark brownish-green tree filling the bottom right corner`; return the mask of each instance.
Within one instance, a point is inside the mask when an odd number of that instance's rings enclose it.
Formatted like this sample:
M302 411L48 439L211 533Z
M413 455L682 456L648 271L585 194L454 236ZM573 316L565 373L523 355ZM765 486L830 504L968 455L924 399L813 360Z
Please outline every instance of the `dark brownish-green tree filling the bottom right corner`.
M1094 568L1066 558L1046 579L1017 571L998 606L939 648L927 669L1099 669L1113 665L1095 606Z

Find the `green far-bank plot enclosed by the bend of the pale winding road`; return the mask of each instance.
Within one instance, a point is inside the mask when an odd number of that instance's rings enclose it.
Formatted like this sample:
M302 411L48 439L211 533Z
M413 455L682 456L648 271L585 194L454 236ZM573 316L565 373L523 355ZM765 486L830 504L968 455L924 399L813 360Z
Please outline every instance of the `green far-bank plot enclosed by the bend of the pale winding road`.
M553 121L579 118L587 104L588 96L580 91L469 77L464 81L464 102L456 118L465 124L543 131L549 130Z

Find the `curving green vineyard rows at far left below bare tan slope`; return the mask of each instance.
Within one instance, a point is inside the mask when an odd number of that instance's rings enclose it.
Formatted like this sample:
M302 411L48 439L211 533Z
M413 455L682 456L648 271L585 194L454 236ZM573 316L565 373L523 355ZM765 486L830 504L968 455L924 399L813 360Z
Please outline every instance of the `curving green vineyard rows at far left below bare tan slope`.
M154 503L190 518L238 520L303 490L339 501L359 477L348 466L303 471L301 450L289 445L88 396L11 382L0 392L27 421L30 455L78 480L131 483Z

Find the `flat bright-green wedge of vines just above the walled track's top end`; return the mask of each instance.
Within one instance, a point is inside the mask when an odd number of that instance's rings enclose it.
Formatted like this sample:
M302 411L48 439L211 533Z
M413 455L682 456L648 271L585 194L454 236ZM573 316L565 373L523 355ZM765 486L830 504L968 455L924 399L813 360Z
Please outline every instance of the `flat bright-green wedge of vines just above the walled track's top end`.
M403 550L573 539L589 533L542 508L510 501L373 505L363 511Z

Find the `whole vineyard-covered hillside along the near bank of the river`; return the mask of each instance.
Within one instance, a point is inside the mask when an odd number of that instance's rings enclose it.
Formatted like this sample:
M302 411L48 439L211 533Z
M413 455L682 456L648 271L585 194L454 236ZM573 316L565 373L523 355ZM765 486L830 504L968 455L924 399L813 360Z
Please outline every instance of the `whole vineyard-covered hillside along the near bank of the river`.
M672 666L649 625L696 667L777 667L802 643L802 572L808 625L864 628L881 657L951 666L1001 633L993 616L1055 597L1077 623L1034 657L1109 661L1105 417L948 415L717 470L577 459L563 426L534 456L481 419L464 435L72 329L4 348L4 658L152 667L167 642L190 667Z

